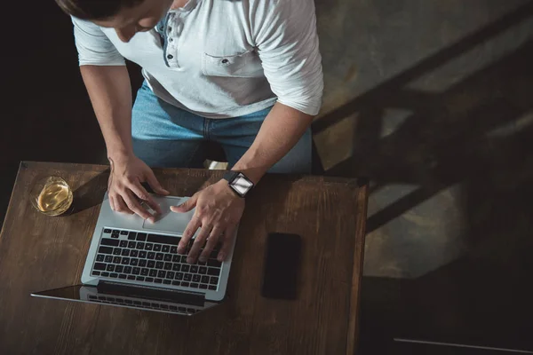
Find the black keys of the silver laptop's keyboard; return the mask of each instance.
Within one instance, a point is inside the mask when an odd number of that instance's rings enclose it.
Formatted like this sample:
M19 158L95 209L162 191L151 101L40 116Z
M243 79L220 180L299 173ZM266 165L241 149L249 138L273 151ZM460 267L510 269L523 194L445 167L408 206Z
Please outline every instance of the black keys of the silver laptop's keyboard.
M179 237L104 228L91 275L117 280L136 280L155 286L180 286L216 291L222 263L216 257L187 264L187 254L178 254Z

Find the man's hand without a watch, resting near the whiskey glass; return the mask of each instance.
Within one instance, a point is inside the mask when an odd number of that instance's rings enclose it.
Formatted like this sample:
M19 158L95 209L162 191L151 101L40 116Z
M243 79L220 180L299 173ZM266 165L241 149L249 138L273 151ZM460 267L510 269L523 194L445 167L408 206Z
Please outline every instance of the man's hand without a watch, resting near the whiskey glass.
M140 201L145 201L158 214L161 213L161 208L140 183L147 182L155 193L167 195L169 192L159 184L154 172L147 164L135 155L123 155L115 159L109 158L109 162L111 164L111 174L109 175L107 191L111 209L129 214L136 213L140 217L154 222L155 217L141 206Z

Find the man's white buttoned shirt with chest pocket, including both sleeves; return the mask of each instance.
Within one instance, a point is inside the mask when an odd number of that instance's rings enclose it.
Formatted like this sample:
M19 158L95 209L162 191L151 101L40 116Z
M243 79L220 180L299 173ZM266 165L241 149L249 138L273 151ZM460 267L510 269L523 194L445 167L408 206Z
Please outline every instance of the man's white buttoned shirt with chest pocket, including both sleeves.
M123 43L73 18L80 66L142 67L160 99L207 118L274 105L318 114L322 62L314 0L189 0Z

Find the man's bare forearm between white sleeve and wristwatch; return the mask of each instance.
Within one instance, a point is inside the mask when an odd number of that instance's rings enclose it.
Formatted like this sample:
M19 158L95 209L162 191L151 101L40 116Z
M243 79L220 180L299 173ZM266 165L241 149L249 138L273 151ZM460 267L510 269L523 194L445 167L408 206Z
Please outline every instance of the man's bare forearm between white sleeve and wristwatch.
M261 125L250 149L235 163L232 170L243 171L257 184L298 143L311 122L313 116L276 103Z

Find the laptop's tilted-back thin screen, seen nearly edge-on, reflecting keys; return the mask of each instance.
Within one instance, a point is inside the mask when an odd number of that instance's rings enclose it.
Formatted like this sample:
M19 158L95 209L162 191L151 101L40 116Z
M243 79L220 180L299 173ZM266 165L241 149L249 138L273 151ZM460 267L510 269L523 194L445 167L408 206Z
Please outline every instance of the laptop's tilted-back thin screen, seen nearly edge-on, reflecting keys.
M192 315L217 305L217 303L203 301L203 297L201 299L200 296L187 294L167 295L164 291L131 287L123 288L116 285L105 285L105 287L99 286L98 288L88 285L76 285L36 292L31 296L90 304L107 304L181 315Z

